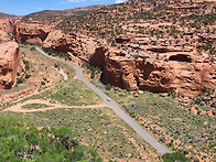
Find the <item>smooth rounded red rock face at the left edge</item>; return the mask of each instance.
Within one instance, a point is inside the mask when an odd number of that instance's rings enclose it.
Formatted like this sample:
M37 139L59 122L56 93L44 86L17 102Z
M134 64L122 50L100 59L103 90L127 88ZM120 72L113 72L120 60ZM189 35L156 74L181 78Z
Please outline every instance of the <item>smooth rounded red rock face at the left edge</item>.
M17 83L22 58L17 42L3 42L0 48L0 89L9 89Z

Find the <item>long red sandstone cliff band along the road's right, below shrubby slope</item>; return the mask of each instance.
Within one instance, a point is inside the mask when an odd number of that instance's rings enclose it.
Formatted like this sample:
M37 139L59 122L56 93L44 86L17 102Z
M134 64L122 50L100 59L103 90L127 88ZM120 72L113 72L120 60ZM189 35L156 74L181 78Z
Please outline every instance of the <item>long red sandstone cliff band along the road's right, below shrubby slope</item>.
M122 50L98 45L98 41L87 35L64 34L52 26L21 23L15 28L18 42L39 43L45 48L64 52L99 66L104 71L101 80L105 84L153 93L174 90L190 97L199 94L204 87L215 89L216 65L209 56L197 56L197 52L190 47L152 46L148 36L133 35L132 40L139 40L140 44L145 41L143 48L136 47L145 50L150 55L131 56ZM116 39L117 43L129 42L129 46L134 47L130 41L131 36Z

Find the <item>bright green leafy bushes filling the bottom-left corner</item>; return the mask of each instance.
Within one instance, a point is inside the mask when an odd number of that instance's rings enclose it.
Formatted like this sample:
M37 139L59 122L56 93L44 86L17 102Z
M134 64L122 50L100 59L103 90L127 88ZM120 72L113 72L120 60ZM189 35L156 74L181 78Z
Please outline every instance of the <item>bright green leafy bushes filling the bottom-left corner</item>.
M0 127L1 161L101 161L68 127L36 128L14 117L1 117Z

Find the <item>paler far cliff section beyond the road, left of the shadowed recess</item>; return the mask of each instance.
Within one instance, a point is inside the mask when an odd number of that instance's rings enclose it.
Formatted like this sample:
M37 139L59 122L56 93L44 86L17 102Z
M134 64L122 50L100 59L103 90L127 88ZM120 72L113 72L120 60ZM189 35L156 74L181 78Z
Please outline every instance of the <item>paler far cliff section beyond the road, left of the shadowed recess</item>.
M52 48L57 52L68 53L68 56L76 56L89 62L90 56L98 47L95 39L74 33L64 34L53 26L41 24L20 23L15 28L15 40L32 44L41 44L44 48Z

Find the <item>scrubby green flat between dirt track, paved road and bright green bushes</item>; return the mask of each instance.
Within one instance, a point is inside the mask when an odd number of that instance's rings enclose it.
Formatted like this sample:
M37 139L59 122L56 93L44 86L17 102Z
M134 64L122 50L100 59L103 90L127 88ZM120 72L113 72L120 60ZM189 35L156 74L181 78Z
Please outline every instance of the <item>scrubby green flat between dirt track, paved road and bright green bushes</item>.
M44 112L15 114L1 116L21 116L31 119L39 127L68 127L80 143L94 147L107 160L128 159L156 161L158 154L149 144L128 128L110 109L56 109Z

